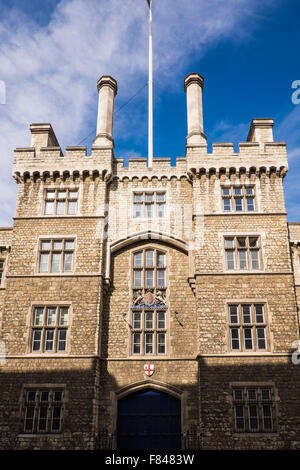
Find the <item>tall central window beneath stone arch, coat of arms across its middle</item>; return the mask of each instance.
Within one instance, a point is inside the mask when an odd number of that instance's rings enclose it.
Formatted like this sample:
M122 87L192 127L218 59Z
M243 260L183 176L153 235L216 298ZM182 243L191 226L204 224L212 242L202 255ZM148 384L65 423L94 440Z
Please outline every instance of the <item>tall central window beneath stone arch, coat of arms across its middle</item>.
M166 253L164 251L145 248L133 253L132 292L132 354L166 354ZM155 307L138 308L139 299L143 299L147 293L154 295L160 307L155 305Z

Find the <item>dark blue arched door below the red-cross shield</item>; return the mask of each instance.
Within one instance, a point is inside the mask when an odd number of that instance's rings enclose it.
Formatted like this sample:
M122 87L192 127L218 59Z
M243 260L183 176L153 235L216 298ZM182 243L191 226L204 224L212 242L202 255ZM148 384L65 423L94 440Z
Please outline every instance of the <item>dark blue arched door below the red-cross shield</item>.
M118 450L180 450L181 401L147 389L118 402Z

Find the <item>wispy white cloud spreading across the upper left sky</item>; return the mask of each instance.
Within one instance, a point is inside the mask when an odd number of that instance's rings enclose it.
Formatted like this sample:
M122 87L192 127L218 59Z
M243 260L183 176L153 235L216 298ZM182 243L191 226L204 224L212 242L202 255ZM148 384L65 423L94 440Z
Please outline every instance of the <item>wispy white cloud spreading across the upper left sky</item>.
M172 86L182 86L180 74L191 55L198 60L212 43L229 36L239 39L256 28L257 12L271 3L154 2L155 69L161 83L172 76ZM95 127L100 75L117 79L121 101L147 81L147 10L144 0L62 0L43 27L18 10L1 19L0 79L6 83L7 103L0 105L5 208L0 225L12 223L12 153L29 145L31 122L51 122L62 146L76 145ZM144 128L138 129L138 120L134 124L123 119L118 131L141 138Z

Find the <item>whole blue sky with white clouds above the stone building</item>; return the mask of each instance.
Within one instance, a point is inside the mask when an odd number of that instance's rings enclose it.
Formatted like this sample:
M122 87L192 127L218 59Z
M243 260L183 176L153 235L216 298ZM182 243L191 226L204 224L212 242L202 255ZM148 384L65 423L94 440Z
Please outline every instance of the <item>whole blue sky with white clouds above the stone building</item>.
M153 0L154 156L184 156L184 77L204 77L204 130L212 142L245 141L252 118L273 117L287 143L289 221L300 221L298 0ZM147 155L148 7L145 0L0 0L0 226L11 226L13 149L29 124L51 122L62 146L90 149L101 75L118 81L115 154ZM300 97L300 94L299 94ZM122 107L122 109L120 109ZM118 111L120 109L120 111Z

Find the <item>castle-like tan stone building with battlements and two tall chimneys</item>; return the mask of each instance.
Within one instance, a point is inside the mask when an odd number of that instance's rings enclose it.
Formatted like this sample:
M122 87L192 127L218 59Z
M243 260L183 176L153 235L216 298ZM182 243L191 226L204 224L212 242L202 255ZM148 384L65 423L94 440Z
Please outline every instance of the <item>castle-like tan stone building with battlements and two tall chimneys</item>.
M203 129L186 77L186 155L114 157L117 83L98 81L91 155L50 124L15 150L0 229L2 449L299 449L300 224L273 120Z

